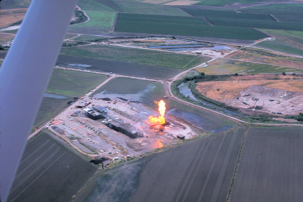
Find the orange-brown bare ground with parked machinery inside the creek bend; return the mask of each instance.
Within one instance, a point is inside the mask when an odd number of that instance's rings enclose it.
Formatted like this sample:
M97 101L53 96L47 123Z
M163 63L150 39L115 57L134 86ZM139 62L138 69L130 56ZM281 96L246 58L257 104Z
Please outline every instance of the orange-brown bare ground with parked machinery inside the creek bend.
M196 88L208 98L224 102L236 108L255 105L263 106L264 103L264 107L268 108L269 112L280 111L285 114L298 114L300 112L299 109L303 108L302 80L208 81L198 83ZM287 91L288 93L286 93ZM242 97L244 94L250 94L250 96ZM281 97L283 95L285 96ZM240 97L240 99L237 100L237 97ZM259 99L258 103L253 101L252 97L257 97ZM248 105L242 103L242 98L247 99L246 103ZM274 101L269 101L269 99L274 99ZM281 104L276 103L278 100L280 100Z

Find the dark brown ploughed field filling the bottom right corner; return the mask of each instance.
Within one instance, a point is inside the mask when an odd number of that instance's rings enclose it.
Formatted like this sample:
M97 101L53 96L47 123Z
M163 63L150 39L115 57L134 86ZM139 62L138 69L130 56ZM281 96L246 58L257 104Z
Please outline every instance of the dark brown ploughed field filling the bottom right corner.
M248 128L230 201L302 201L302 144L301 127Z

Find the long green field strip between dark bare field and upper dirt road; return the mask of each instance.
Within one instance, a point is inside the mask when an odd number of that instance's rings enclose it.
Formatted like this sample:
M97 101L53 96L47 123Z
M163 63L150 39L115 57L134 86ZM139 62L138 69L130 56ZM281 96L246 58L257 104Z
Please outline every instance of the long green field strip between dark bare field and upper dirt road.
M61 53L66 55L109 59L178 69L195 67L196 65L209 60L208 57L197 55L184 55L113 45L85 45L78 47L67 47L62 48Z

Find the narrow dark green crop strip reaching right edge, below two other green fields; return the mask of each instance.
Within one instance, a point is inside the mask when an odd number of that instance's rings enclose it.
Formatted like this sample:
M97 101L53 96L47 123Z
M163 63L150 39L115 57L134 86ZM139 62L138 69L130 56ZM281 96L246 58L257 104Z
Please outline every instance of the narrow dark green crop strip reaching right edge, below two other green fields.
M250 27L250 28L264 28L264 29L284 29L303 31L303 23L294 22L268 22L268 21L252 21L252 20L233 20L233 19L219 19L207 18L214 25L231 26L231 27ZM238 28L237 28L238 29Z

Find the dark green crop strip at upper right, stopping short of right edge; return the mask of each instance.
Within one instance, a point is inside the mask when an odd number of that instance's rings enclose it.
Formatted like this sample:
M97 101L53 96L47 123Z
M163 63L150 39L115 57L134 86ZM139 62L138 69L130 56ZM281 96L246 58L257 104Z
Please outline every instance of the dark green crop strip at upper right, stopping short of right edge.
M261 20L261 21L275 21L268 14L256 14L256 13L236 13L233 10L210 10L204 9L203 7L197 9L196 7L179 7L182 10L194 15L196 17L206 17L206 18L226 18L226 19L242 19L242 20Z

